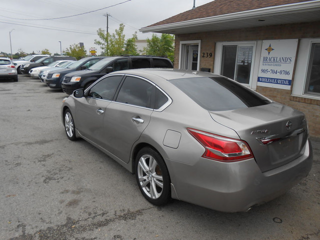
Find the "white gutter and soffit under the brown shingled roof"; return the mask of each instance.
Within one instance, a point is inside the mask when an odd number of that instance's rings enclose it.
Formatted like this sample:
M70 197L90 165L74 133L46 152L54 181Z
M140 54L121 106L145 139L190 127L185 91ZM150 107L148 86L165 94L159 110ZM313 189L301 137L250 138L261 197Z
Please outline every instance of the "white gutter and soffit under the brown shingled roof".
M218 16L142 27L145 32L185 34L247 27L320 21L320 0L258 8Z

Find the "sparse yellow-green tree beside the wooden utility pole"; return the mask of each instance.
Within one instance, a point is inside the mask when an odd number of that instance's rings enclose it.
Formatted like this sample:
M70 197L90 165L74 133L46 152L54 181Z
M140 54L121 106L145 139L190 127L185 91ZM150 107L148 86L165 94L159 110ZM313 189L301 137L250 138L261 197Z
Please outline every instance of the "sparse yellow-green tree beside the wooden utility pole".
M118 29L115 29L115 33L110 34L104 29L99 28L97 30L99 40L95 39L94 44L100 46L106 56L116 56L122 54L136 55L135 39L137 39L136 32L131 38L125 40L123 34L124 25L121 23Z

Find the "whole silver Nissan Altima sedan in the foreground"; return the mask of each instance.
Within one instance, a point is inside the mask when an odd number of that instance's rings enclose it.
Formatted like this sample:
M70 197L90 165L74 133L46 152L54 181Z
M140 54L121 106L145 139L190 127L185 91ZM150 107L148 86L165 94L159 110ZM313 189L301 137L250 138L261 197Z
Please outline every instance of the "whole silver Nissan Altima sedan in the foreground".
M132 69L63 100L70 140L81 137L135 174L142 195L246 211L310 171L302 112L209 72Z

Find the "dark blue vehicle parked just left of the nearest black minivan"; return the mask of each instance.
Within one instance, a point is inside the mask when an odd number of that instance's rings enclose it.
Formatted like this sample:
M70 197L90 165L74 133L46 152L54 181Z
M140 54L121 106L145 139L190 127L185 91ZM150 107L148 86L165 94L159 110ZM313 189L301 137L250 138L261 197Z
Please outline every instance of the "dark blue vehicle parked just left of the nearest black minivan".
M91 56L91 57L84 57L78 61L75 61L68 65L66 68L62 69L55 69L52 71L49 71L43 80L44 83L50 88L61 88L61 82L63 80L63 77L65 74L73 71L79 71L84 70L86 68L89 68L105 56Z

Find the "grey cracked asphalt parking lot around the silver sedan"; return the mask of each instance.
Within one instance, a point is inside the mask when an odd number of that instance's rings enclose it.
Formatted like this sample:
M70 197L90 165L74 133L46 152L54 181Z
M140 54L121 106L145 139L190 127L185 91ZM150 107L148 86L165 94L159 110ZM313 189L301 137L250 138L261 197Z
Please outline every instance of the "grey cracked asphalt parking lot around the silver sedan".
M309 175L248 212L178 200L157 207L134 175L86 141L67 139L65 96L28 76L0 80L0 240L320 239L320 138L311 137Z

